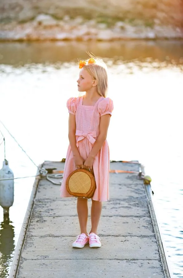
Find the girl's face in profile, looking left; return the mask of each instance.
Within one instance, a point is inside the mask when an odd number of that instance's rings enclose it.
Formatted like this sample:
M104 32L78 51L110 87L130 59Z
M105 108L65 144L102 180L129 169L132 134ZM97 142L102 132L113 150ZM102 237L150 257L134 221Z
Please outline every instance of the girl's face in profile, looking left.
M79 92L89 91L94 84L92 76L84 69L81 69L79 73L79 79L77 80L77 82Z

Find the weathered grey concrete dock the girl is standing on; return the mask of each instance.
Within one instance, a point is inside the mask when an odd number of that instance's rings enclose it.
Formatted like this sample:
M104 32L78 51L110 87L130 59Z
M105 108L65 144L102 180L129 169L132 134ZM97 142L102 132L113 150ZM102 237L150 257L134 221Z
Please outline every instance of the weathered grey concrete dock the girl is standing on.
M42 166L64 169L63 162ZM139 164L111 162L110 169L138 172ZM110 173L110 200L103 202L98 228L101 248L72 248L80 233L77 200L60 198L59 189L46 178L34 185L10 278L170 277L151 200L137 173Z

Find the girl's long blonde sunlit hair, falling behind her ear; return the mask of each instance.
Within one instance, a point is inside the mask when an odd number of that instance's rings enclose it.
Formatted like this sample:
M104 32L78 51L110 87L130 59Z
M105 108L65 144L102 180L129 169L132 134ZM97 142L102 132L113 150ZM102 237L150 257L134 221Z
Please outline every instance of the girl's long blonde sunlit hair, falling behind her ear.
M87 70L87 72L96 80L98 94L106 98L108 90L107 66L102 59L91 55L90 57L95 59L95 63L88 64L88 59L86 60L86 65L84 65L83 68Z

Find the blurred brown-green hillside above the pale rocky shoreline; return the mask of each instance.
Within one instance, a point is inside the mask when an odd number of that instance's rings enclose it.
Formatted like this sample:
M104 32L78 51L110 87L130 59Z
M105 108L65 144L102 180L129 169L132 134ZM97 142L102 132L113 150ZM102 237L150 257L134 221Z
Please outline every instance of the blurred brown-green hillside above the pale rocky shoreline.
M40 2L21 1L7 3L0 1L0 23L16 21L26 23L39 14L51 15L54 19L62 20L65 16L70 19L82 17L86 20L96 20L108 27L122 21L132 25L153 27L158 22L164 25L183 26L183 0L42 0Z

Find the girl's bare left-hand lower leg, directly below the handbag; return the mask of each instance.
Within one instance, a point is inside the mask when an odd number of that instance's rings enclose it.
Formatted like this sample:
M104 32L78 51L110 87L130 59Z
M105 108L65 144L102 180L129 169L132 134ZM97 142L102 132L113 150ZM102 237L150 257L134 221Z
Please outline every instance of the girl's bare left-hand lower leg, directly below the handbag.
M78 212L81 234L83 234L83 233L87 234L87 220L88 220L87 199L78 198L78 200L77 200L77 212Z

